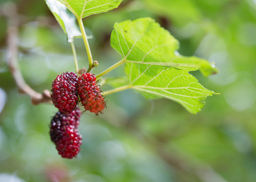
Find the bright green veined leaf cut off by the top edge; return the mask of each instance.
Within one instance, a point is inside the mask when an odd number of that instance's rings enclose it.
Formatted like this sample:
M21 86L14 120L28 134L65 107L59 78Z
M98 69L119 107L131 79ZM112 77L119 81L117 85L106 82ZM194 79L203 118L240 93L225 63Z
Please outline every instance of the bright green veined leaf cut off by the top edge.
M77 17L107 12L118 7L122 0L59 0Z

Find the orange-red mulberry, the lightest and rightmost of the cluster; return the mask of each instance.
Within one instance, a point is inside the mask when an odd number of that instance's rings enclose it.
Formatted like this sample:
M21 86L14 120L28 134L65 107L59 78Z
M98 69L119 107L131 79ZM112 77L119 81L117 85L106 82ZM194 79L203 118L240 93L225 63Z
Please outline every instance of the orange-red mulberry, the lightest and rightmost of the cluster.
M96 82L96 76L92 73L79 76L77 93L85 110L99 115L106 107L104 96Z

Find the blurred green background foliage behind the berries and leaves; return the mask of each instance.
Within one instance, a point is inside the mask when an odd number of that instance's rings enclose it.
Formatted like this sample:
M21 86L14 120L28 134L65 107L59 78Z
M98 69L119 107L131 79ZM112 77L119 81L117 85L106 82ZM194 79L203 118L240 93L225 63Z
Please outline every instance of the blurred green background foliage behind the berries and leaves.
M256 179L256 1L133 0L84 19L100 73L121 57L110 47L115 22L151 17L180 41L179 53L214 61L218 75L191 72L221 95L196 115L167 99L146 100L126 90L107 96L104 114L82 115L82 151L61 158L49 138L57 109L33 106L18 93L7 66L8 18L0 2L0 181L241 182ZM43 0L16 0L19 66L37 92L59 73L74 72L71 47ZM79 67L87 67L75 39ZM123 76L123 67L105 77ZM107 90L108 87L102 87Z

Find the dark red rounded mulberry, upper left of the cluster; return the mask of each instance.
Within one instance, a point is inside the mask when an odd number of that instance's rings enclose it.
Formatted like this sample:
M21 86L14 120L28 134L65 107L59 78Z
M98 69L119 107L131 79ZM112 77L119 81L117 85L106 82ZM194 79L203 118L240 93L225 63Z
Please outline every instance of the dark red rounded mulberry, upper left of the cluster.
M52 82L52 102L60 112L70 113L76 108L78 101L77 81L75 73L66 72L58 75Z

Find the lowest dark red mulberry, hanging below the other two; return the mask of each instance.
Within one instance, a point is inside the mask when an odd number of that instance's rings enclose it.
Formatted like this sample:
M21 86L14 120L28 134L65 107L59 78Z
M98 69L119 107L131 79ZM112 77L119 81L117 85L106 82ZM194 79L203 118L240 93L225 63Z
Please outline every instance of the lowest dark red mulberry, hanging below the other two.
M56 149L63 158L73 158L80 151L82 136L78 133L81 111L77 107L73 112L57 112L51 120L50 136Z

